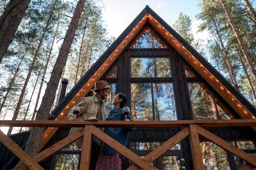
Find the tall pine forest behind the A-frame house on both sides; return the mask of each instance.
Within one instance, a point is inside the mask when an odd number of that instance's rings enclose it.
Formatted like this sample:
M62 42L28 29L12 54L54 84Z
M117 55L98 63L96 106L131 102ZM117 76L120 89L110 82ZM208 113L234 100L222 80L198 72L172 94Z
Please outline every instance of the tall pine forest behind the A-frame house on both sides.
M0 2L0 15L3 16L9 2ZM0 60L0 119L36 119L61 53L61 44L72 17L75 17L77 3L63 0L31 0L29 3L12 42ZM256 15L252 4L252 1L201 0L197 33L192 30L191 18L186 13L180 13L171 27L256 106ZM68 93L116 39L108 35L102 10L102 1L84 1L67 61L61 78L57 80L57 90L47 94L54 99L48 115L58 104L61 80L69 80ZM0 19L0 23L2 21ZM197 38L198 34L205 32L208 39ZM28 129L1 127L1 130L11 134Z

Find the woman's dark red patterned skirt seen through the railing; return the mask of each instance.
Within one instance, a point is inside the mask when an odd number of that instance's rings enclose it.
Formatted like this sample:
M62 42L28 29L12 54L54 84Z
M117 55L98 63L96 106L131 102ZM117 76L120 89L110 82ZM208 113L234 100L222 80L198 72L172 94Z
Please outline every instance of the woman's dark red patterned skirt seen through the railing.
M120 154L99 154L95 170L121 170Z

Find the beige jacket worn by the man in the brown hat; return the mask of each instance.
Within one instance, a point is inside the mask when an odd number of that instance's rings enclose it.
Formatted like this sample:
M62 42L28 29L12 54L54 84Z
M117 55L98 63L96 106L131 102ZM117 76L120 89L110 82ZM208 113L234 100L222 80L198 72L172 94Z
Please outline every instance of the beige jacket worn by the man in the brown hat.
M77 104L80 108L80 113L76 116L76 120L85 120L89 117L96 117L98 108L99 108L99 100L96 95L82 98L82 100ZM102 105L102 120L105 120L105 112L106 108ZM66 120L73 120L75 118L75 114L73 114L72 109L70 110L68 116L65 117ZM71 128L69 134L74 133L75 131L82 128ZM77 147L82 148L82 137L74 142Z

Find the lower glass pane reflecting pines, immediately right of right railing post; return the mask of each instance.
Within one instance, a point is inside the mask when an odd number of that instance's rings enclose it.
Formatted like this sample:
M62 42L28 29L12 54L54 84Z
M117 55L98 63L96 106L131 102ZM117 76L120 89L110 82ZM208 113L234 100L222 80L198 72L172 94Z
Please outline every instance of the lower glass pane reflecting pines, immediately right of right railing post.
M211 142L201 142L200 145L205 169L230 170L225 150Z

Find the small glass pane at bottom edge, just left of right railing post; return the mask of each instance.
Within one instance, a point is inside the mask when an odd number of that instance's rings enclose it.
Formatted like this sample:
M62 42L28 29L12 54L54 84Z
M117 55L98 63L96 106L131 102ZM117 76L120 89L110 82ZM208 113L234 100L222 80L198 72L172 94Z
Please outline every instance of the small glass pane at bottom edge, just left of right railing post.
M179 156L161 156L162 170L180 169L180 157Z

